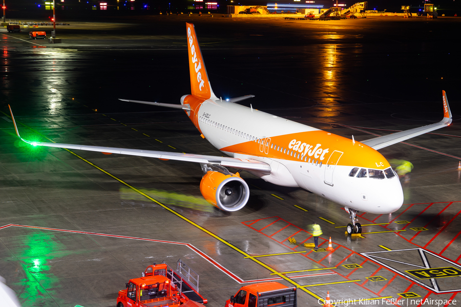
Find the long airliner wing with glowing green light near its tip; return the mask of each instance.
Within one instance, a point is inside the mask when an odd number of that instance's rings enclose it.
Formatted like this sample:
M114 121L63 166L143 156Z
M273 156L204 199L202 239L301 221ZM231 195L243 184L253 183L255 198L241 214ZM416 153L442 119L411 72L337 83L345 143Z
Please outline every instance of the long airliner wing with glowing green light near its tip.
M9 106L9 105L8 105ZM10 107L11 112L11 107ZM226 167L234 167L245 170L256 170L262 172L270 172L271 168L269 164L249 159L238 159L232 157L218 157L218 156L206 156L206 155L194 155L191 153L182 152L168 152L168 151L155 151L155 150L142 150L142 149L130 149L130 148L116 148L116 147L103 147L103 146L90 146L90 145L74 145L74 144L61 144L61 143L46 143L46 142L31 142L24 140L19 136L19 131L14 120L13 113L11 112L11 118L13 119L14 128L17 136L26 143L32 146L47 146L67 149L79 149L89 151L99 151L107 153L119 153L120 155L130 155L139 157L158 158L163 160L178 160L188 161L204 164L219 164Z

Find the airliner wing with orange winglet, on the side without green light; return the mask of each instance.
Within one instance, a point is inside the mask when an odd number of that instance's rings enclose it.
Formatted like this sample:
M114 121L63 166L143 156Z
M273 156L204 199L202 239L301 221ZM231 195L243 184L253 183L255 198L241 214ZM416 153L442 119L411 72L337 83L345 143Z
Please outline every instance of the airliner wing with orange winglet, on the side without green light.
M442 91L442 95L443 95L443 102L444 102L444 118L438 123L423 126L423 127L413 128L413 129L409 129L405 131L400 131L400 132L393 133L387 136L369 139L361 143L368 145L372 147L373 149L378 150L378 149L390 146L392 144L399 143L399 142L414 138L416 136L420 136L430 131L449 126L452 122L453 117L451 115L450 106L448 105L447 94L445 93L445 91Z

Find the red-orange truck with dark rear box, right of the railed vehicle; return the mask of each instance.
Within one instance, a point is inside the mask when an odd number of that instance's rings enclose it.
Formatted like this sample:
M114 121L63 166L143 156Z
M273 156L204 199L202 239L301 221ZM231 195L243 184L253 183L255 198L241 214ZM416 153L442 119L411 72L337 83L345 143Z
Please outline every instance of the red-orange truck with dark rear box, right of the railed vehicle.
M296 287L269 281L243 286L224 307L297 307Z

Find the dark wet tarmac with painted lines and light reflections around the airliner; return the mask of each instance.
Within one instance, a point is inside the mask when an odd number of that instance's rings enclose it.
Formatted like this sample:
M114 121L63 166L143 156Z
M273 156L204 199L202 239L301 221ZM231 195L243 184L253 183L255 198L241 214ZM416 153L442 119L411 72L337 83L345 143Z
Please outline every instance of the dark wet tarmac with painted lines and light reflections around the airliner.
M414 166L402 174L404 205L361 213L367 226L354 238L341 206L244 171L250 200L227 213L203 200L199 165L17 139L8 104L29 140L220 155L182 111L117 100L179 103L190 93L185 21L222 98L253 94L241 103L361 141L441 120L445 90L453 123L380 150ZM361 305L459 304L460 23L143 16L58 27L59 45L0 30L0 276L23 307L115 306L151 262L176 267L179 258L212 307L245 282L273 278L298 287L298 306L327 291ZM334 252L288 242L312 242L313 221ZM434 278L415 272L448 267Z

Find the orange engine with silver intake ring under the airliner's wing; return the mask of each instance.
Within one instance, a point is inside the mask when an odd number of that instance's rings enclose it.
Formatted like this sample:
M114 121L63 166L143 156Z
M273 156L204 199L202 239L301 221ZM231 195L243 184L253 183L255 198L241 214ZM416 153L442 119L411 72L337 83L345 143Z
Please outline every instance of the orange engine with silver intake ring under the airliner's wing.
M212 170L203 176L200 192L208 203L224 211L242 209L249 198L249 188L243 179L233 173L226 175Z

